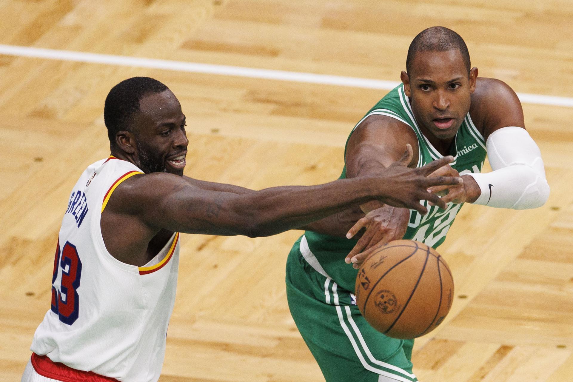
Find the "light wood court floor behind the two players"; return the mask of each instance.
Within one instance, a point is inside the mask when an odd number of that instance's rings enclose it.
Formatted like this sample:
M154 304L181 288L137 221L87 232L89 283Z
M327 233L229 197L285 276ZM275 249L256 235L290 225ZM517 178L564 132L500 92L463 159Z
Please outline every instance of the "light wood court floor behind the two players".
M480 75L573 97L569 0L0 0L0 43L398 81L444 25ZM70 188L108 155L103 102L124 78L170 86L186 174L250 188L335 179L384 91L0 56L0 380L19 381L50 299ZM422 382L573 381L573 108L524 104L551 186L537 210L464 207L439 251L452 311L417 340ZM182 238L162 382L324 381L293 324L285 258L300 231Z

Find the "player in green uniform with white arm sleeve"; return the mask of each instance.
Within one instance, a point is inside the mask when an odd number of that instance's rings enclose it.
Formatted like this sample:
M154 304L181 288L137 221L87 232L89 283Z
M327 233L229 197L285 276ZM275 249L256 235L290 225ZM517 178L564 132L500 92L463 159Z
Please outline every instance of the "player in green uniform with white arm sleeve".
M448 192L442 198L446 210L424 203L429 212L422 216L366 203L363 210L372 211L348 233L368 228L355 250L355 239L307 231L289 254L289 308L327 382L417 380L410 361L414 341L376 332L355 305L355 268L376 246L358 254L362 249L401 238L436 248L465 202L521 209L547 200L543 161L525 131L519 99L504 82L477 75L457 33L444 27L422 31L410 44L402 84L370 109L346 144L342 179L378 173L406 144L414 148L410 167L453 155L436 174L461 175L464 182L431 189ZM480 174L486 152L493 171Z

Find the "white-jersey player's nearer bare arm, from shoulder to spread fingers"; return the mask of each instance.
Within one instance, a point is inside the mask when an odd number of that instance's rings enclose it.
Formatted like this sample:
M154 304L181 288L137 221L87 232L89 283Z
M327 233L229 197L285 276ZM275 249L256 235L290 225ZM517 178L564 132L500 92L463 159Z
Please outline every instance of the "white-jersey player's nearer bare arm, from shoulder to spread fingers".
M444 158L431 166L410 169L411 148L401 162L376 176L342 179L319 186L284 186L234 194L198 188L182 177L156 173L134 176L120 187L125 211L140 216L150 227L186 233L273 235L305 225L353 205L380 200L415 208L419 200L439 198L427 192L436 184L457 184L460 178L427 178L452 160Z

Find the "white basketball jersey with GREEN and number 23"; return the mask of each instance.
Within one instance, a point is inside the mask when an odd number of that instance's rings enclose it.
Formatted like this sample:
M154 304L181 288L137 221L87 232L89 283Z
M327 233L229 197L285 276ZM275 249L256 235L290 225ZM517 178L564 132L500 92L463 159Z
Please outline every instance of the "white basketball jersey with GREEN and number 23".
M157 381L175 302L179 234L144 267L112 257L100 218L109 196L142 171L115 157L89 166L74 186L62 220L52 308L31 350L70 368L120 381Z

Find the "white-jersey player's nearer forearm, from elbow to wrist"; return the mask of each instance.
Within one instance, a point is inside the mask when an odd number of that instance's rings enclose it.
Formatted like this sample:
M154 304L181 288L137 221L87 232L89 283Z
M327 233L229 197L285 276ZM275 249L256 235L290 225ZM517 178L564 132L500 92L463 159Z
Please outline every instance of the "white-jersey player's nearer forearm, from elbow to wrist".
M238 196L230 208L237 215L246 215L249 236L268 236L375 199L385 194L384 187L372 178L342 179L320 186L273 187Z

